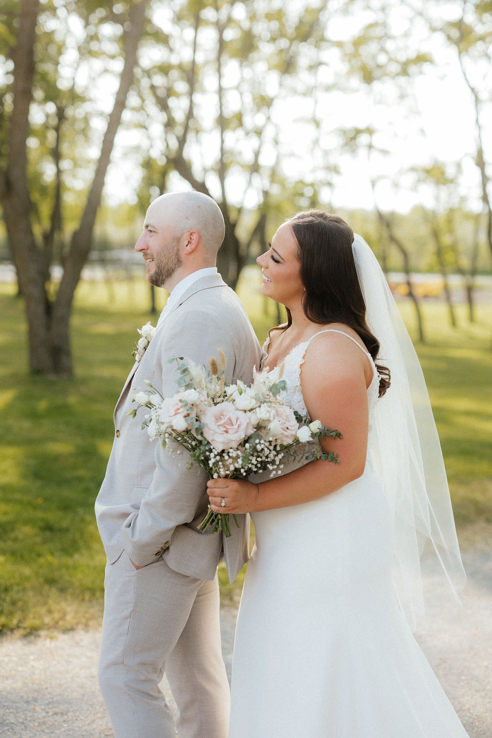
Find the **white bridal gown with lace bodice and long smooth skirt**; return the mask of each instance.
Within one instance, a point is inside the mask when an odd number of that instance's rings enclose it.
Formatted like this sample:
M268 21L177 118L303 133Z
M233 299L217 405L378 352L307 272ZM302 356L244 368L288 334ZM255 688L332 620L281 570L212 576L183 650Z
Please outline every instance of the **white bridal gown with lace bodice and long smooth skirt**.
M303 414L308 344L291 351L283 373L285 401ZM229 738L465 738L399 610L392 516L370 459L337 492L252 519Z

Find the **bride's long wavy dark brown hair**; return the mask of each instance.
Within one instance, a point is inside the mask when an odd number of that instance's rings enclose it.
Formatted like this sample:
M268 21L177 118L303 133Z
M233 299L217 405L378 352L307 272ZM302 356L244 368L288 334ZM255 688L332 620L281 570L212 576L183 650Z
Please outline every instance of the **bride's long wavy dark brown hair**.
M344 323L361 337L367 351L377 359L378 339L366 322L366 303L358 282L353 258L353 230L339 215L324 210L305 210L288 218L297 240L300 277L305 286L302 308L312 323ZM292 325L287 308L287 325ZM390 384L389 369L376 363L379 375L379 396Z

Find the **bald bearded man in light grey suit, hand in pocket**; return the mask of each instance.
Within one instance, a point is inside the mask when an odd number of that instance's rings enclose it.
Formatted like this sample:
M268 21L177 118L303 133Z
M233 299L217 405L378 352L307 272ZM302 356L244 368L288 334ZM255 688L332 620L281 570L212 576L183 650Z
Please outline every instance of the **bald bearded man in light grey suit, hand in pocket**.
M159 689L165 672L179 707L179 738L226 738L229 684L221 655L217 565L229 579L248 557L248 525L232 536L198 531L207 476L141 430L132 396L152 382L176 393L172 356L208 365L221 348L226 382L251 382L260 347L240 300L215 268L224 240L218 205L201 193L150 204L135 249L147 279L170 292L156 334L132 368L114 410L114 444L96 501L107 554L100 688L117 738L174 738ZM181 463L179 459L181 458Z

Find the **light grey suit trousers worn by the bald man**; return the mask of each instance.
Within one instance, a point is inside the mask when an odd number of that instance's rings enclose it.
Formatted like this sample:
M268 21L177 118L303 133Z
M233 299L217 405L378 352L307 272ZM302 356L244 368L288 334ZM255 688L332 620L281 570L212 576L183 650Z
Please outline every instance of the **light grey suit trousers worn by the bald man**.
M179 738L226 738L229 683L221 652L218 579L164 559L136 570L123 551L106 565L99 683L116 738L175 738L158 685L167 676Z

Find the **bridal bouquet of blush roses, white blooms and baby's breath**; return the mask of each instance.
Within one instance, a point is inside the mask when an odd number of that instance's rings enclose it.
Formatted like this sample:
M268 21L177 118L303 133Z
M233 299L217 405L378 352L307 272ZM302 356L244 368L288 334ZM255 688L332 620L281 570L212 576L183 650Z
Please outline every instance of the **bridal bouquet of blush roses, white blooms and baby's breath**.
M339 463L336 454L322 451L319 439L342 434L283 403L280 394L286 383L281 370L273 375L254 371L251 387L240 381L226 384L226 359L220 350L218 356L219 362L210 360L209 371L174 356L170 363L177 363L179 391L163 398L146 382L149 389L134 394L137 407L128 415L135 417L140 407L147 407L150 413L142 428L150 438L160 438L164 448L175 441L190 453L187 468L197 463L210 478L248 477L266 469L274 476L282 472L285 458ZM306 448L308 441L314 442L314 449ZM224 530L226 537L231 535L229 514L209 510L198 528L204 531L209 525L214 533Z

